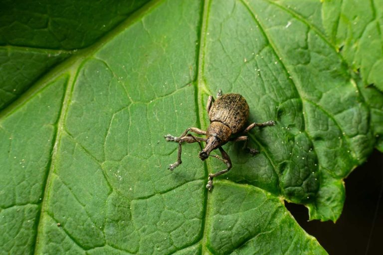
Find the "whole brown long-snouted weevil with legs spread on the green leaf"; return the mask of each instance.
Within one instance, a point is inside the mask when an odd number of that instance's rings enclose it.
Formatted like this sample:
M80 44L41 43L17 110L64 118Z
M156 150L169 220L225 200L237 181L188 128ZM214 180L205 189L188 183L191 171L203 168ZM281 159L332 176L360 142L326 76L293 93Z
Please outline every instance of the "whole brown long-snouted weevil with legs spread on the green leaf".
M226 164L226 169L209 174L206 188L210 191L213 187L213 178L228 172L232 166L230 157L226 151L223 150L222 145L228 141L244 141L243 148L245 150L253 155L258 154L258 150L247 147L248 137L246 135L238 134L245 134L254 127L273 126L275 125L275 122L252 123L246 127L245 124L249 118L249 105L246 100L240 94L229 93L222 95L221 90L217 93L217 99L215 101L212 96L208 97L206 110L210 120L210 125L206 131L199 128L188 128L180 136L167 134L164 135L164 137L167 141L178 142L177 161L169 165L168 169L170 170L174 170L182 163L181 152L182 144L184 142L199 143L201 151L198 156L202 161L211 156ZM206 135L206 138L188 134L189 131L200 135ZM201 141L206 143L204 148L202 148L202 145L200 144ZM218 155L210 155L210 152L216 148L218 148L221 153L221 157Z

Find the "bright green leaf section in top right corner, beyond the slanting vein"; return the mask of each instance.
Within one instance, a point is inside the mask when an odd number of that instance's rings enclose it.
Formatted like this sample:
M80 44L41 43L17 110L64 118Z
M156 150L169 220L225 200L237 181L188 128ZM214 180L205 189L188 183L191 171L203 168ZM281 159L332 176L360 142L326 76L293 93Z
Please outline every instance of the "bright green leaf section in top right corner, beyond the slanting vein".
M366 85L383 91L382 0L278 0L287 11L320 30L349 66L361 72Z

